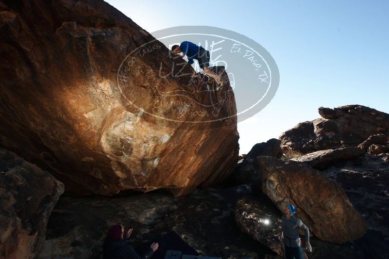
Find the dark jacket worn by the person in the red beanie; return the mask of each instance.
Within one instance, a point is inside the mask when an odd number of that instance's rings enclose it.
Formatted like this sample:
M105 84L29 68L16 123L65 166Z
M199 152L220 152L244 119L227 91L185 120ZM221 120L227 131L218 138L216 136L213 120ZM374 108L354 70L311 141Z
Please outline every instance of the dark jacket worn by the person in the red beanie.
M127 243L123 239L110 240L106 238L103 247L103 258L104 259L150 259L154 251L149 248L145 254L139 255L136 253L130 243Z

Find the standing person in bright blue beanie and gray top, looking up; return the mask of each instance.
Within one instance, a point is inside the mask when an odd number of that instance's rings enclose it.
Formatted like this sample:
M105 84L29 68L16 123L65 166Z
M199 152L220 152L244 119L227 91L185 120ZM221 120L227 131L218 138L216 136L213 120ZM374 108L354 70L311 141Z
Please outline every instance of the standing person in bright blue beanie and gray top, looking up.
M294 214L297 209L294 205L288 204L282 215L282 232L278 235L279 239L284 238L285 257L287 259L304 259L304 252L299 238L300 228L305 232L305 246L308 251L312 251L309 243L309 229L304 225L301 219L296 218Z

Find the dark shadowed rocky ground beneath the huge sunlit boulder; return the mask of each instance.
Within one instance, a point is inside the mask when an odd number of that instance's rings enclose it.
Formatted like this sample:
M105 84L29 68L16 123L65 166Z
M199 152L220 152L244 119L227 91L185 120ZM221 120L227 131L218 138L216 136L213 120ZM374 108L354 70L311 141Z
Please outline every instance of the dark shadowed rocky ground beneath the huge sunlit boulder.
M101 258L110 225L133 227L131 242L139 246L170 230L201 255L261 258L276 255L243 233L235 222L236 202L251 194L248 185L207 188L182 198L154 191L121 197L62 196L51 213L46 243L37 259Z

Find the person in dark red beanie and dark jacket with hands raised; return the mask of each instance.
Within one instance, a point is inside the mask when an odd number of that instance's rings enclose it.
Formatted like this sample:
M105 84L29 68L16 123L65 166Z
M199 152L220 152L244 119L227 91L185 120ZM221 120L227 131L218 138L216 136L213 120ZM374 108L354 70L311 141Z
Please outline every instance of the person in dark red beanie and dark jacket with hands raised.
M132 232L132 228L127 230L126 240ZM102 245L104 259L149 259L154 251L158 249L158 243L152 243L143 255L139 255L132 245L123 239L123 235L124 227L120 223L117 223L109 229L108 235Z

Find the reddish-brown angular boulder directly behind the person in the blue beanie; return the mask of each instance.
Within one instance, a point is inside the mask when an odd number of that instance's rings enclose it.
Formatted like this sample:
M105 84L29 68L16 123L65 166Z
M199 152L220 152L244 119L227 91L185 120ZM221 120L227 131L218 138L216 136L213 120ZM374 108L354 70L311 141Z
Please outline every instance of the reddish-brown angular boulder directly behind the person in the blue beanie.
M318 238L345 243L363 236L366 225L338 183L308 164L258 157L262 191L279 210L294 204L301 218Z

